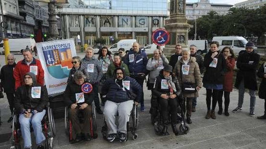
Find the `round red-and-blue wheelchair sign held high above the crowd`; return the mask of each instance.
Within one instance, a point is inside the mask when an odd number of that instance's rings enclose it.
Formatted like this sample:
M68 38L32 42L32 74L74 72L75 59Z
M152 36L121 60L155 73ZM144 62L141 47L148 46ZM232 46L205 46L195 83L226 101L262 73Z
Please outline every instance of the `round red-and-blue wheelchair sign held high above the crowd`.
M165 29L156 29L152 33L152 41L154 44L162 46L169 42L170 35Z

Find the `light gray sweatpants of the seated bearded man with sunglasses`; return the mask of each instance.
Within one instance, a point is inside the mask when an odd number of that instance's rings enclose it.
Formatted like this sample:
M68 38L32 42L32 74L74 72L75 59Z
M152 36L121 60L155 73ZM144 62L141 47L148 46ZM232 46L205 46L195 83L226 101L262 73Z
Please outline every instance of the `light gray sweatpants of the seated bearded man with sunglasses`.
M106 101L103 114L108 127L108 134L127 133L127 122L129 121L130 113L133 108L133 100L115 103ZM115 116L118 113L118 126L115 124Z

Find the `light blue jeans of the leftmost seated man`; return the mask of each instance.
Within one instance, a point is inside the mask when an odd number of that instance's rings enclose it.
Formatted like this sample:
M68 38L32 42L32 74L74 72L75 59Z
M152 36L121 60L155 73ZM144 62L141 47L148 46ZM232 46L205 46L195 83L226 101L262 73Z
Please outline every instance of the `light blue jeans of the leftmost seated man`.
M35 141L37 145L40 145L44 140L44 134L42 132L41 120L45 115L45 111L38 112L32 115L30 118L26 118L24 114L19 114L19 124L21 129L22 138L24 140L24 148L31 147L31 129L32 126L34 130Z

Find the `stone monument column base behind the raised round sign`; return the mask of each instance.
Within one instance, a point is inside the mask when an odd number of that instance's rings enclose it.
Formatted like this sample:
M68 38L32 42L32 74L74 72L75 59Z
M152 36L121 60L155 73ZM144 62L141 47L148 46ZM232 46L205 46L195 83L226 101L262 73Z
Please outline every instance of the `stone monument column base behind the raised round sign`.
M168 20L164 27L170 33L170 41L164 48L164 54L174 54L175 45L177 44L181 45L182 48L188 46L190 25L186 19L186 0L170 1L170 20Z

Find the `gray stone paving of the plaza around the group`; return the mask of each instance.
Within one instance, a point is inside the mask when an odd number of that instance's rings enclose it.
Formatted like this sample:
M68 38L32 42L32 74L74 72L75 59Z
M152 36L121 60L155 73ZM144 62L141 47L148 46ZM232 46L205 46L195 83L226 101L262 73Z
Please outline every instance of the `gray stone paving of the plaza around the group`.
M84 54L78 54L83 57ZM22 55L15 55L17 60L21 60ZM4 56L0 56L0 64L3 66ZM146 86L146 84L144 85ZM127 148L127 149L265 149L266 148L266 120L258 120L257 116L264 113L264 100L256 98L255 117L249 114L249 95L245 93L243 110L239 113L230 112L227 117L224 114L216 115L216 120L206 120L206 90L200 90L200 97L197 100L196 112L192 113L192 124L189 125L190 132L187 135L175 136L168 127L169 136L158 136L155 134L150 120L150 94L145 87L144 102L145 112L139 112L139 127L136 133L137 140L132 140L129 135L127 142L107 142L100 133L103 126L103 115L97 114L97 132L98 138L89 142L80 142L70 144L65 134L64 119L55 120L57 135L54 138L54 149L103 149L103 148ZM230 96L229 110L232 111L238 101L238 91L234 90ZM218 105L216 111L218 111ZM8 101L5 98L0 99L2 126L0 127L0 136L11 133L11 123L7 123L10 116ZM33 135L33 134L32 134ZM7 135L8 136L8 135ZM11 138L0 143L0 149L9 148ZM1 142L1 141L0 141Z

